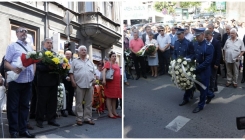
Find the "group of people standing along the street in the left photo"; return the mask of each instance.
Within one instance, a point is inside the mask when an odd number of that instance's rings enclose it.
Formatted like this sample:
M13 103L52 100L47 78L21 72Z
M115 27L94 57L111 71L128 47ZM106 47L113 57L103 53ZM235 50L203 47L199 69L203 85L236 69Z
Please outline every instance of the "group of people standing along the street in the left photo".
M106 107L108 117L112 119L121 118L116 110L116 101L122 98L120 67L116 62L116 54L111 51L109 60L100 62L98 69L87 57L87 48L81 45L77 49L78 58L72 58L72 52L65 50L65 57L70 64L70 70L65 75L55 73L55 67L47 65L43 61L34 63L26 69L20 69L13 65L22 53L33 51L33 48L26 43L27 29L18 27L16 29L17 42L8 46L3 66L3 79L6 79L7 71L19 74L15 81L6 83L0 81L1 85L7 87L7 119L11 138L27 137L34 138L28 129L34 129L28 124L29 119L35 119L36 126L43 128L43 122L48 125L59 127L57 119L57 93L58 85L64 83L66 90L66 109L61 110L64 117L76 116L76 124L83 123L94 125L92 119L92 102L94 85L96 80L104 86ZM43 54L50 51L53 54L53 41L47 38L43 41ZM113 80L107 81L105 74L108 69L114 69ZM5 84L3 84L5 83ZM98 83L97 83L98 84ZM74 94L75 93L75 94ZM73 111L73 99L75 97L75 112ZM66 110L68 114L66 114Z

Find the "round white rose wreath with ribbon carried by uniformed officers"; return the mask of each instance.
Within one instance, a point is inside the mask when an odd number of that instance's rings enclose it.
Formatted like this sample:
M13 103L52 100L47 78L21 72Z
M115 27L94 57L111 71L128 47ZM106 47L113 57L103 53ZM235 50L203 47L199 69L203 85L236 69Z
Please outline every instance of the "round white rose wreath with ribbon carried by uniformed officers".
M172 60L169 66L169 74L172 75L172 81L174 84L182 89L187 90L194 86L194 83L199 84L203 89L206 87L196 80L194 70L196 69L196 63L186 58L178 58Z

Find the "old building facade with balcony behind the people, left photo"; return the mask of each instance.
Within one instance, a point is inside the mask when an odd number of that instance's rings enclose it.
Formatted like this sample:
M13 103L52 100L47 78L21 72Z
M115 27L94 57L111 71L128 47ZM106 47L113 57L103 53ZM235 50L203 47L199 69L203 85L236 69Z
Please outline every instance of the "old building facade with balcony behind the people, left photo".
M66 11L73 15L70 41L76 47L85 45L94 63L108 57L113 50L117 61L122 64L121 2L0 2L0 57L6 53L7 46L17 41L15 30L18 26L28 29L27 41L35 50L42 49L45 38L53 39L53 50L64 52L67 41L63 21Z

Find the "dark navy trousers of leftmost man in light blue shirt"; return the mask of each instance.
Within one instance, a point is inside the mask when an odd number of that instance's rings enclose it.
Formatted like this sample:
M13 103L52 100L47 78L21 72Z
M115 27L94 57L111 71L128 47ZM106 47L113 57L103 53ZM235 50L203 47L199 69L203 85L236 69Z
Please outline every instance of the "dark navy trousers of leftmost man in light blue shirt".
M27 131L29 101L32 83L9 82L7 94L7 118L9 133L24 133Z

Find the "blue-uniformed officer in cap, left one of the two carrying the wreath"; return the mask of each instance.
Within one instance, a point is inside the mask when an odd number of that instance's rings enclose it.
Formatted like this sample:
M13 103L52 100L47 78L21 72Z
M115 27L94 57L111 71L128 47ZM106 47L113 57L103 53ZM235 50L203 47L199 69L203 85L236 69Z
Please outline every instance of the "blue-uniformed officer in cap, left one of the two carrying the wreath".
M177 59L178 57L186 57L191 56L194 54L194 49L192 46L192 43L185 38L185 29L181 28L175 28L177 30L177 37L178 40L174 43L174 50L173 50L173 59ZM179 106L183 106L189 102L189 99L191 96L193 96L194 89L188 89L185 91L184 98L182 103L179 104Z

